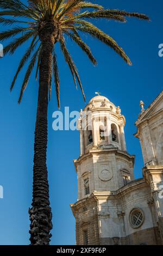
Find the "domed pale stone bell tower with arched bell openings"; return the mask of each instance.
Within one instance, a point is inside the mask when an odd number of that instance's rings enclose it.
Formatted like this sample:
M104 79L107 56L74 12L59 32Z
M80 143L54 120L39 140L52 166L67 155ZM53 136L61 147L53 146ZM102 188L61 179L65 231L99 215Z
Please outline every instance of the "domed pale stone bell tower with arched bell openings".
M78 201L71 205L77 245L102 244L101 234L106 229L102 220L110 215L106 194L115 194L134 180L135 157L127 153L125 123L120 107L101 95L80 112L80 156L74 160Z

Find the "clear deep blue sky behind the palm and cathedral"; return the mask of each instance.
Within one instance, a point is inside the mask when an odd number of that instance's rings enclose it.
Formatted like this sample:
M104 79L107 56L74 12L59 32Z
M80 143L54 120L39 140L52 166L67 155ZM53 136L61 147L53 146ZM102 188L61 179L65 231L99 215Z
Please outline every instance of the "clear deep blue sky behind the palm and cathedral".
M96 68L86 56L68 41L74 61L78 65L86 99L89 101L99 90L119 105L126 117L126 141L130 154L136 155L135 177L142 176L142 155L139 140L134 138L134 123L140 113L139 102L146 107L162 90L163 58L158 56L158 45L163 43L162 9L160 0L94 0L106 8L139 11L151 17L152 22L128 19L127 23L96 21L100 28L117 40L131 58L128 66L117 54L101 42L86 38L95 54ZM1 27L1 31L2 31ZM1 42L0 42L1 43ZM24 71L18 77L12 93L10 83L16 72L22 47L14 56L0 59L0 185L4 187L4 199L0 199L0 244L28 245L28 208L32 200L33 143L37 104L38 82L30 79L21 105L17 104ZM57 47L61 78L61 110L84 108L80 90L73 86L70 71ZM53 131L52 113L57 110L55 91L48 109L47 165L53 211L52 245L75 244L75 221L70 203L76 202L77 175L73 159L79 156L78 131Z

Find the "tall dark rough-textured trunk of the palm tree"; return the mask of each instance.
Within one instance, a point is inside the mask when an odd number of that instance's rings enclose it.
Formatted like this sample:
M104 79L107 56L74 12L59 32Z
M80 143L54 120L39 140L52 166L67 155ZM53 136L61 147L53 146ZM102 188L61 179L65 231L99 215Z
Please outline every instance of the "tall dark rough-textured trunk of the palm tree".
M39 96L35 126L33 201L29 209L31 245L49 245L52 229L52 211L49 202L47 175L47 112L48 90L53 62L54 36L44 29L40 36L42 53L39 74Z

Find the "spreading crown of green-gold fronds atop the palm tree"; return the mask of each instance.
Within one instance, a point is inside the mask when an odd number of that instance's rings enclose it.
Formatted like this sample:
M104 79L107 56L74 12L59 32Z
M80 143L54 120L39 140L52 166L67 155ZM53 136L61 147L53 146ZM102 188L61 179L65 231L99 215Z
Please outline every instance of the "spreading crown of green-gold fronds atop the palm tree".
M9 17L8 17L9 16ZM100 4L92 3L90 0L28 0L27 4L22 0L0 0L0 24L3 26L19 25L22 27L14 27L11 30L0 33L0 42L12 39L7 46L4 47L4 54L13 54L17 48L29 39L32 38L29 48L23 54L22 59L18 65L16 74L11 84L11 90L14 87L18 74L23 69L23 66L30 60L26 75L24 77L19 103L22 99L24 89L27 87L29 76L36 64L36 79L39 72L41 57L42 57L42 43L39 45L37 51L37 36L41 32L43 26L48 22L56 22L58 28L58 38L55 38L55 43L60 41L61 51L64 54L65 61L71 71L74 84L77 88L77 83L82 90L84 100L82 83L78 74L76 65L73 62L70 52L68 52L64 34L68 35L87 55L93 65L96 65L96 59L93 56L90 47L81 38L80 33L89 34L93 38L102 41L105 45L111 47L117 54L119 54L125 62L131 65L131 61L124 50L117 44L117 42L101 29L93 25L87 19L108 19L120 22L126 22L127 17L136 17L141 20L149 20L145 14L130 13L125 10L104 9ZM24 19L22 19L24 18ZM22 23L22 24L21 24ZM20 25L21 24L21 25ZM24 27L23 27L24 25ZM17 38L15 38L17 37ZM52 73L54 72L55 90L57 94L58 107L60 107L60 81L59 71L57 65L57 57L53 52L53 67L51 72L51 80L49 83L49 99L51 98L52 89Z

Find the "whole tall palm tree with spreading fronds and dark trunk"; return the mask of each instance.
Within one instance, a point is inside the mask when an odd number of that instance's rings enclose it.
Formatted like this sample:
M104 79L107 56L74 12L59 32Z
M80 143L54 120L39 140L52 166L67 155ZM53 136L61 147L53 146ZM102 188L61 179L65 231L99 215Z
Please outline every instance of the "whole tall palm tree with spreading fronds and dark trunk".
M29 44L20 60L10 88L12 90L18 74L29 61L18 103L22 100L35 65L36 78L39 72L39 96L34 143L33 201L32 208L29 209L31 221L29 233L31 245L48 245L51 238L52 211L49 202L46 166L47 111L48 101L51 98L53 74L58 107L60 108L60 80L55 44L59 42L74 84L76 87L79 84L85 100L78 70L66 47L65 35L82 48L93 65L96 65L97 62L89 46L80 37L82 32L111 47L125 62L131 65L130 59L116 41L89 20L104 18L126 22L126 17L136 17L142 20L149 20L149 18L139 13L104 9L99 4L84 0L29 0L27 2L27 4L24 4L20 0L0 0L0 8L2 9L0 11L0 23L4 26L12 26L11 29L0 33L0 41L14 38L4 47L4 54L13 54L24 43L28 42ZM19 36L15 38L17 35Z

